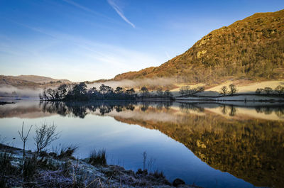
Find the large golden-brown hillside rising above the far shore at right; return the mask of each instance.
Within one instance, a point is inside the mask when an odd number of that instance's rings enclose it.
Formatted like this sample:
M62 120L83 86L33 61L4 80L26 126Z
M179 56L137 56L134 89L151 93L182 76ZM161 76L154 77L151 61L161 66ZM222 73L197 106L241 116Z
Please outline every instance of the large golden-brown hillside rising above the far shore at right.
M159 67L118 74L115 80L175 77L178 82L284 79L284 10L255 13L205 35Z

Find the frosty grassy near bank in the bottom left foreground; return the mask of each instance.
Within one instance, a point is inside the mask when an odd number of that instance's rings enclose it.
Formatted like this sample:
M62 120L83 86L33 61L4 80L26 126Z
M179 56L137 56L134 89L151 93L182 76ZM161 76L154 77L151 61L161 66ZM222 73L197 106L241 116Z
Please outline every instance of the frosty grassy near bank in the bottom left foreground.
M67 150L68 151L68 150ZM66 153L67 153L66 151ZM6 157L5 157L6 156ZM8 156L8 157L7 157ZM55 153L35 153L26 151L26 162L35 161L34 166L28 167L28 177L21 175L23 163L23 150L0 143L0 161L6 161L5 167L13 169L11 174L0 178L0 182L7 187L185 187L197 188L195 185L187 185L182 179L169 182L163 172L148 172L147 170L125 170L119 165L91 165L88 160L75 159L72 155L58 158ZM10 166L9 166L10 165ZM3 169L9 172L11 169ZM25 171L23 172L25 175ZM4 186L4 187L5 187Z

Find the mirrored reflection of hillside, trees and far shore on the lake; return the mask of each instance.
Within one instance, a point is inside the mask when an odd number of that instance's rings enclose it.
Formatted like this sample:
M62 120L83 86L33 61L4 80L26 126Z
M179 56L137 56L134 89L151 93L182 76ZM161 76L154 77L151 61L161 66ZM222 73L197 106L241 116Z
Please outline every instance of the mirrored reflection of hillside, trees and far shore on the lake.
M28 111L23 111L25 108ZM0 107L2 118L24 113L34 117L33 111L46 116L111 116L119 122L156 129L185 145L214 169L229 172L255 186L284 184L284 107L279 104L97 101Z

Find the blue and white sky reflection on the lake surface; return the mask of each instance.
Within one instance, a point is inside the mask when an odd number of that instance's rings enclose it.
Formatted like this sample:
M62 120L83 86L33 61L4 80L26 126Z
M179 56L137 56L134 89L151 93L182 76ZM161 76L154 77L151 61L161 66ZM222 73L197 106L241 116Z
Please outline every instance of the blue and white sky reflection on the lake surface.
M123 165L126 169L137 170L143 167L142 153L148 153L148 160L155 159L152 170L162 170L173 181L176 177L185 179L189 184L202 187L252 187L242 179L220 172L202 162L190 150L160 131L150 130L137 125L116 121L110 116L88 115L85 118L71 118L59 115L45 118L1 118L0 133L7 142L16 147L22 146L17 131L25 121L25 128L43 121L55 122L61 132L60 140L53 145L79 145L75 155L87 157L93 149L105 148L109 163ZM33 147L33 131L27 148ZM12 138L16 138L13 141Z

